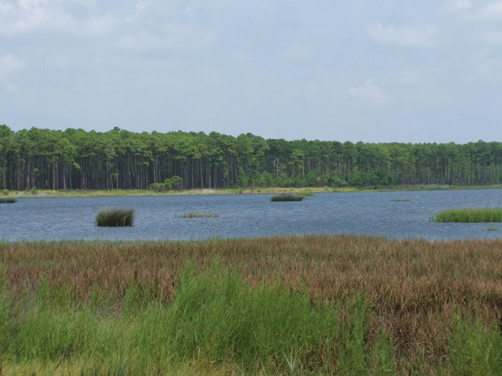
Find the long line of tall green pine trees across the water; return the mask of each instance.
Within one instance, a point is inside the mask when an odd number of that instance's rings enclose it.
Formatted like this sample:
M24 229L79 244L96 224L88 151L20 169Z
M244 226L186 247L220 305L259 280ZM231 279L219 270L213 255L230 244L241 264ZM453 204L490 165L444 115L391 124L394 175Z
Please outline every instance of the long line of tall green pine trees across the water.
M352 143L0 125L0 189L114 190L502 183L502 143Z

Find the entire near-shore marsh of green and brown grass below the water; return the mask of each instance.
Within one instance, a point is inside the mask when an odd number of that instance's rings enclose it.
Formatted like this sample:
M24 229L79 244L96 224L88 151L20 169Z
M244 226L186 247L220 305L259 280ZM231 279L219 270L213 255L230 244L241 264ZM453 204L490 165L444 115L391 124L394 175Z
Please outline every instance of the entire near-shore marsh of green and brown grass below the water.
M0 275L5 375L502 372L502 240L2 242Z

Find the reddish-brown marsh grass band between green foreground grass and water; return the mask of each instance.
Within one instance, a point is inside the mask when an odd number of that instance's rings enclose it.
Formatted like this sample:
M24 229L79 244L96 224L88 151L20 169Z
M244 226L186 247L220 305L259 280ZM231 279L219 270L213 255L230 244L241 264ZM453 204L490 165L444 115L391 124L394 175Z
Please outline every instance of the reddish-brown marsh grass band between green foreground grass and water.
M276 237L193 242L2 243L0 269L11 288L44 276L87 299L92 291L117 296L131 282L169 301L190 258L197 267L218 260L250 283L269 281L307 290L312 300L364 295L375 327L383 323L409 357L444 352L451 314L502 313L502 241L388 240L355 236ZM399 353L398 351L398 353ZM399 360L399 359L398 359Z

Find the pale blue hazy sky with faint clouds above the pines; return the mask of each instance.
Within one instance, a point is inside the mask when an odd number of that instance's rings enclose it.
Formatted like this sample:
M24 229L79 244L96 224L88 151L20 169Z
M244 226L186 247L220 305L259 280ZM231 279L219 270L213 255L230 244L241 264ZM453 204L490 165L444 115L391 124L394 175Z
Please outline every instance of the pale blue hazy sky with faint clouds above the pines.
M502 141L502 1L0 0L0 124Z

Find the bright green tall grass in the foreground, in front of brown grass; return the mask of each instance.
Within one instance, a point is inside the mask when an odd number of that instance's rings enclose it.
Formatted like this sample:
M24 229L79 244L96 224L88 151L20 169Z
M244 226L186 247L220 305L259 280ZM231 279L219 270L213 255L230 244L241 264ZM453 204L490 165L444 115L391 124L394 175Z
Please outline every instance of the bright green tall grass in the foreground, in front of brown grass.
M460 310L441 360L425 367L420 356L398 361L361 295L313 301L301 286L252 286L238 270L197 271L191 260L168 304L153 286L125 282L123 298L101 291L81 300L46 280L9 291L4 277L3 374L502 374L497 323Z

